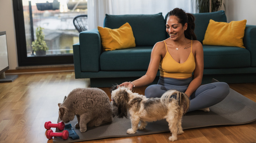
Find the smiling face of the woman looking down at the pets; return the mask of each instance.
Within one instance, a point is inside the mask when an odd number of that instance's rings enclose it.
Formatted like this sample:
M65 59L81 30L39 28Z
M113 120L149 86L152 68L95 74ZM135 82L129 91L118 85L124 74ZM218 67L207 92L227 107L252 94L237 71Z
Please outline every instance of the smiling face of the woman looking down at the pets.
M185 37L184 30L187 27L187 23L182 26L178 21L177 16L169 16L166 22L166 32L169 34L171 40L180 40Z

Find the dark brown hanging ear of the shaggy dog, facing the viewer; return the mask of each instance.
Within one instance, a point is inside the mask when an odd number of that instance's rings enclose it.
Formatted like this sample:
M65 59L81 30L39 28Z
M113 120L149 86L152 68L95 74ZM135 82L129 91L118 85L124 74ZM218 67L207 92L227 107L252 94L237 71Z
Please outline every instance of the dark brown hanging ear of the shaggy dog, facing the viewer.
M127 118L129 96L126 91L120 91L117 98L117 117Z

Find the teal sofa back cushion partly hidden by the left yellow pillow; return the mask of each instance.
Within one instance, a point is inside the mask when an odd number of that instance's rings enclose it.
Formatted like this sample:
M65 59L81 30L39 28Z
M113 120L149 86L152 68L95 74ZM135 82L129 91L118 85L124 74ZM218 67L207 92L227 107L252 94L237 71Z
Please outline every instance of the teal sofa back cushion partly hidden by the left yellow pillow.
M166 38L165 22L162 13L141 15L106 14L104 27L116 29L126 22L132 27L136 46L153 46Z

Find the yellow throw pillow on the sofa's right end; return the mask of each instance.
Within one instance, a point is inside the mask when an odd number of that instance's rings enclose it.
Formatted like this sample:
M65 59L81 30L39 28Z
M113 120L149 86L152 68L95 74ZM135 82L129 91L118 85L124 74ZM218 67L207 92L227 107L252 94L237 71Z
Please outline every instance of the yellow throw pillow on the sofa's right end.
M245 48L243 43L245 26L246 20L231 21L230 23L210 20L204 35L203 45Z

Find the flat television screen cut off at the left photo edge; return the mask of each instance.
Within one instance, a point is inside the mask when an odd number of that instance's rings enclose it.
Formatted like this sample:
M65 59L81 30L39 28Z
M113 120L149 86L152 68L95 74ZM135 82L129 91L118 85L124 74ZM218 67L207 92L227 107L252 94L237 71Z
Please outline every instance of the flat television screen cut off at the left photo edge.
M0 31L0 75L9 69L6 32Z

